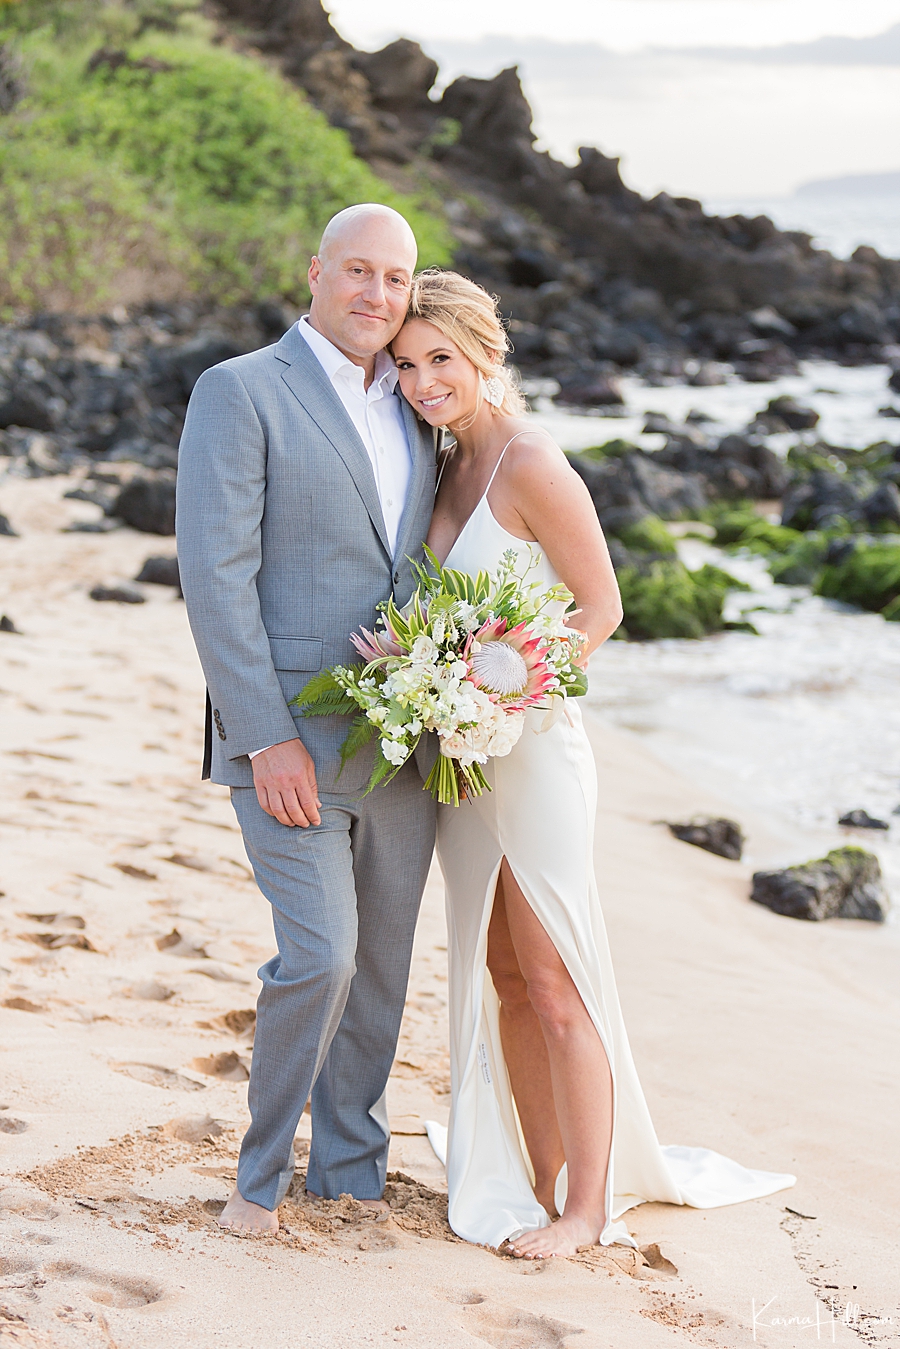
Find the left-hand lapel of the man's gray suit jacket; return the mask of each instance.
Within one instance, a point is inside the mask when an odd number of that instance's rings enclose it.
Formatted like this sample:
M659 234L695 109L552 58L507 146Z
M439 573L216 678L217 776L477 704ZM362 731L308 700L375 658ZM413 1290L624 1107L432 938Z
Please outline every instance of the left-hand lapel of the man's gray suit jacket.
M370 519L375 526L378 537L382 541L382 546L390 557L387 530L385 529L385 518L378 499L378 488L375 487L375 473L372 472L371 460L366 447L359 438L356 428L349 420L347 409L335 393L331 379L316 360L309 344L304 341L301 335L294 328L289 329L289 332L286 332L278 343L275 347L275 356L278 360L286 362L286 368L282 371L281 378L285 380L297 402L306 409L322 436L331 441L343 459L347 471L354 479L356 490L363 499L363 505L368 511ZM414 420L412 409L410 414ZM412 438L410 451L413 452L414 464L417 456L414 441Z

